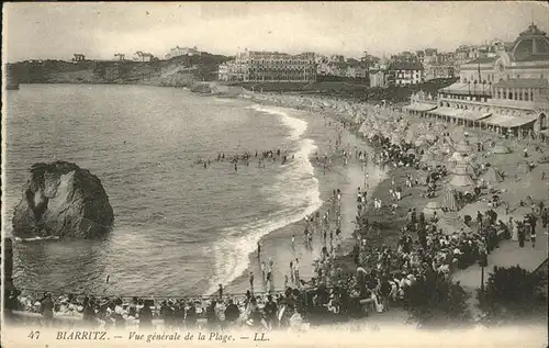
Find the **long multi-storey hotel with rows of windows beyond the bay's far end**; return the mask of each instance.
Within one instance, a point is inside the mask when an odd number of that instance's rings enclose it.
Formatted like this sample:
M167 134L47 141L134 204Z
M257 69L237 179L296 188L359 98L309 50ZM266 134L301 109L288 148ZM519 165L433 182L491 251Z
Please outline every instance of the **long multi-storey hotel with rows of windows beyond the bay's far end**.
M245 50L220 65L219 79L243 82L314 82L314 53L289 55L278 52Z

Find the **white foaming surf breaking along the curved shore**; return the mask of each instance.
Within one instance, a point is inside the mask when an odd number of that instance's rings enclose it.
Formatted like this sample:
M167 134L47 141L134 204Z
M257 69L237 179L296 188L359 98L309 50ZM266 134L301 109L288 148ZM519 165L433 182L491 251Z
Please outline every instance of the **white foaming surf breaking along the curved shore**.
M292 117L288 111L281 109L259 105L250 106L250 109L280 116L283 124L290 128L290 138L299 143L299 150L295 153L294 160L289 162L273 184L265 188L265 191L270 191L269 195L283 209L266 218L221 231L222 237L212 248L215 267L206 294L214 293L219 283L231 283L246 271L249 267L249 255L257 249L257 243L264 236L302 221L306 215L318 210L323 203L318 179L314 176L314 168L310 160L310 156L317 146L313 139L300 138L306 131L307 123Z

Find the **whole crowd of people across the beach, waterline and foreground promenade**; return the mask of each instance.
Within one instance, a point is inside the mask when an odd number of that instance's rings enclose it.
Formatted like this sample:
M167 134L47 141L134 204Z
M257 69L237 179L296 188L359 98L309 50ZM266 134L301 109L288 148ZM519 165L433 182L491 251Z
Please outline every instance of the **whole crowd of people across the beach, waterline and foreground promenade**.
M264 98L264 97L261 97ZM282 98L282 97L280 97ZM329 105L316 103L307 98L292 97L288 106L324 111ZM265 101L265 100L264 100ZM274 100L276 101L276 100ZM272 102L272 101L271 101ZM400 184L392 179L389 200L382 201L369 192L368 176L365 168L365 184L357 189L356 228L352 234L355 247L351 252L355 269L344 270L337 261L337 251L343 244L341 234L341 191L333 191L330 205L325 212L317 211L304 218L303 245L312 250L315 240L322 245L321 254L314 261L314 277L310 280L300 276L300 260L298 257L290 261L289 274L284 276L282 291L276 291L273 282L272 260L260 260L261 245L258 243L258 261L260 262L261 280L266 284L266 293L254 292L254 273L249 273L249 290L243 295L227 295L220 284L217 294L209 298L195 299L112 299L93 298L86 295L53 296L45 293L38 296L23 295L16 291L8 293L8 304L11 310L23 310L41 313L43 319L52 323L56 315L81 316L82 321L92 326L119 328L138 326L150 328L156 319L171 328L204 327L220 329L235 326L260 327L264 329L293 327L303 328L304 323L321 323L348 317L361 317L372 312L384 312L392 306L406 306L408 289L422 279L440 277L449 279L452 272L466 269L475 262L485 263L488 255L495 250L503 239L518 242L525 247L529 240L535 247L536 226L538 218L541 225L549 225L548 209L542 202L534 202L529 198L520 201L520 206L531 207L523 218L517 221L509 217L503 221L495 211L497 200L490 199L490 209L478 212L477 216L464 216L462 227L453 231L442 228L439 221L442 218L434 212L426 215L423 211L410 209L405 216L404 226L400 229L397 242L394 245L373 240L380 239L383 234L383 224L371 218L369 212L376 211L377 216L395 215L400 202L406 190L423 189L424 198L434 198L440 191L441 181L448 176L444 164L426 165L422 157L425 148L415 146L413 142L404 142L374 133L370 144L374 147L373 154L359 148L343 148L340 130L355 130L361 124L368 112L343 101L332 105L337 112L346 112L349 117L341 122L334 122L338 131L335 139L335 150L340 156L341 165L347 165L352 158L361 164L373 160L382 169L389 171L399 167L415 168L425 173L424 178L406 176L405 183ZM343 105L343 106L341 106ZM389 108L376 108L376 113L393 115L389 119L388 127L401 124L403 116ZM332 124L330 124L332 125ZM426 128L432 125L428 124ZM483 144L478 150L483 150ZM492 146L493 147L493 146ZM228 156L219 154L216 161L228 161L237 171L237 164L249 166L250 160L257 159L258 166L265 167L266 161L290 160L285 150L268 150L244 153ZM292 159L294 156L292 155ZM316 156L316 162L324 169L329 158ZM210 160L202 162L208 168ZM473 192L459 202L461 205L482 197L489 197L490 190L475 187ZM511 207L507 206L507 211ZM506 214L508 215L508 214ZM291 247L295 248L295 236L292 236Z

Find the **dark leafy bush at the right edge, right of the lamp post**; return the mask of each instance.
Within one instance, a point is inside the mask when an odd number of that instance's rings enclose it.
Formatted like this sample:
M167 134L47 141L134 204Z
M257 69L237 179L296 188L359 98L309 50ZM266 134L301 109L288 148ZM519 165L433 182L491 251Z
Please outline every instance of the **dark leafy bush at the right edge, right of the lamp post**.
M477 296L486 325L544 317L547 315L547 273L529 272L518 266L494 267L484 292L479 290Z

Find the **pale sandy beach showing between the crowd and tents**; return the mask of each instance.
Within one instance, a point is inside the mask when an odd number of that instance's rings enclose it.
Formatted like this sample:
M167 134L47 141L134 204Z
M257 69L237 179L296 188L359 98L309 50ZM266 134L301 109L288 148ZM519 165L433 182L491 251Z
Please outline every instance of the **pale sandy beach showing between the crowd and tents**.
M474 158L474 162L479 165L480 162L491 164L497 170L505 173L505 180L500 182L497 188L501 190L502 199L511 206L514 211L518 207L522 200L526 200L527 197L534 202L546 201L547 192L549 192L549 182L547 177L541 180L542 172L549 172L549 164L544 161L542 158L547 154L540 143L529 139L529 138L513 138L505 142L505 145L509 148L509 153L505 155L494 154L491 148L495 146L498 141L497 134L489 131L471 131L470 128L464 128L462 126L434 123L432 121L421 120L418 117L413 117L407 114L402 113L399 110L391 108L378 108L369 104L352 104L347 101L338 100L326 100L320 98L303 98L302 96L282 96L282 94L247 94L246 99L251 99L256 102L278 105L278 106L289 106L302 110L307 110L313 113L313 111L318 114L318 122L315 119L307 120L310 122L310 128L315 128L324 126L322 124L324 117L328 120L338 120L347 123L347 127L343 132L343 144L350 145L350 148L357 146L358 148L367 148L369 153L374 153L374 149L369 146L367 136L369 134L382 134L383 136L390 137L391 143L399 144L401 141L405 139L407 142L415 142L415 145L422 144L422 148L425 148L428 156L435 157L435 162L440 165L448 165L447 159L449 158L449 150L453 150L455 147L449 147L448 153L441 153L440 148L445 148L445 145L440 145L438 134L441 132L448 132L450 137L453 139L453 146L457 143L469 142L471 145L471 158ZM323 116L321 116L323 115ZM373 115L373 117L371 117ZM396 115L396 117L395 117ZM386 117L386 124L383 121ZM401 121L399 121L401 120ZM405 120L406 126L403 127L402 123ZM434 123L434 124L433 124ZM430 128L433 127L433 128ZM327 132L330 131L326 127ZM419 143L418 143L419 142ZM483 150L477 149L477 143L484 143L485 148ZM318 143L320 150L322 146L326 143ZM528 160L525 160L523 156L524 148L529 151ZM440 151L440 153L438 153ZM433 160L432 160L433 162ZM529 171L527 169L528 162L535 162L535 168ZM480 167L480 166L479 166ZM422 170L408 167L391 168L388 170L382 170L379 166L369 164L369 197L381 199L383 202L390 202L389 191L394 181L396 187L405 188L405 180L407 176L412 178L418 178L422 183L425 179L425 173ZM337 254L336 263L344 266L346 271L355 271L355 265L349 257L349 252L352 246L356 244L356 239L352 238L351 233L355 229L355 216L356 216L356 192L358 187L363 187L363 170L359 164L355 161L349 161L348 166L334 166L330 168L329 172L323 175L318 168L316 168L316 176L320 179L321 187L323 188L322 198L326 201L329 197L330 191L335 188L339 188L343 191L343 226L341 231L346 237L343 243L343 247ZM445 179L444 182L449 181L449 177ZM541 189L541 190L540 190ZM370 193L371 191L371 193ZM394 247L397 243L400 235L400 229L405 225L406 213L411 209L416 209L417 212L422 212L424 207L429 202L436 202L440 206L444 204L445 192L444 190L438 190L435 197L425 198L424 193L425 187L423 184L414 186L412 188L405 188L403 190L402 200L399 201L397 207L393 214L388 214L386 211L377 212L371 209L371 201L369 201L369 210L366 213L369 221L377 221L383 226L382 233L373 238L373 244L376 247L381 245L386 245ZM480 202L471 203L464 205L459 212L452 213L448 218L444 218L440 225L444 225L445 229L459 228L460 222L466 214L473 215L477 211L484 212L489 210L488 205L489 197L484 194L481 197ZM323 209L325 210L326 203ZM509 215L500 209L502 221L508 221L513 213ZM516 214L515 214L516 215ZM547 258L547 231L541 231L539 227L541 236L541 243L538 243L534 251L536 255L535 260L530 261L534 263L541 263ZM277 248L273 254L277 255L278 262L285 262L282 267L274 267L277 269L276 284L277 289L280 289L279 280L283 281L283 274L289 273L289 261L298 257L300 258L300 273L307 278L312 274L313 268L311 267L312 260L314 260L315 252L305 251L300 247L295 248L295 252L290 251L290 238L291 235L295 233L296 246L302 245L302 233L303 224L296 223L288 226L284 231L274 232L265 239L266 248L272 247ZM539 239L539 238L538 238ZM277 242L274 242L277 240ZM264 243L264 242L262 242ZM503 244L517 244L513 240L504 240ZM315 245L316 248L321 248L320 244ZM266 251L268 252L268 251ZM531 254L531 252L530 252ZM316 254L317 255L317 254ZM270 257L269 255L267 255ZM253 257L254 258L254 257ZM538 260L539 259L539 260ZM254 265L254 262L253 262ZM259 271L259 263L256 260L257 271ZM277 265L277 263L276 263ZM254 271L254 270L253 270ZM470 271L469 271L470 272ZM256 271L255 271L256 273ZM457 274L457 277L462 277ZM248 285L247 277L246 279L240 279L238 289L245 289Z

